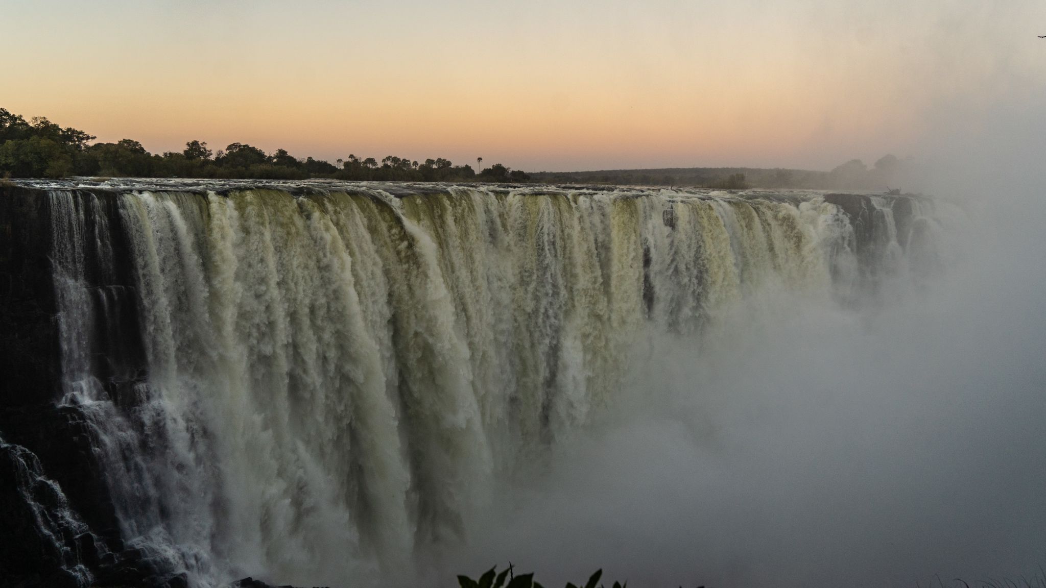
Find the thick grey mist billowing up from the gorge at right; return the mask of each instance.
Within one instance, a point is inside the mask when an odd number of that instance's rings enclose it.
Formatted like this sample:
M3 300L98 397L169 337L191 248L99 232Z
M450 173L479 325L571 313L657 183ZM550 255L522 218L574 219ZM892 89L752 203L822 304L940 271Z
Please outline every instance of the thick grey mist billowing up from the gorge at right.
M1038 576L1046 126L1036 104L978 114L939 125L920 155L922 186L955 212L939 272L856 306L770 289L701 338L637 336L606 417L503 489L446 571L511 561L546 585L602 568L635 586Z

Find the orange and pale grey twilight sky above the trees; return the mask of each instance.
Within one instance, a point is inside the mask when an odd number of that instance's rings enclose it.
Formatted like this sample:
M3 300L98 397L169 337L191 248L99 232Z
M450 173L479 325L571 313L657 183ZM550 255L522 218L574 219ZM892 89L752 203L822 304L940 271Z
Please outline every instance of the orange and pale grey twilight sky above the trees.
M828 169L1046 112L1033 0L0 0L0 107L200 139L526 171ZM936 142L935 142L936 139Z

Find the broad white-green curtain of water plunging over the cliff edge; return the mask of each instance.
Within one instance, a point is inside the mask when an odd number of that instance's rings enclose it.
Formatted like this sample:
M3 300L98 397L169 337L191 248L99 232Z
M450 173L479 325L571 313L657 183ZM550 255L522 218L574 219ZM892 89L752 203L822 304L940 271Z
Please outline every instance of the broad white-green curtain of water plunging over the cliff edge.
M124 541L195 586L438 555L614 403L644 333L767 288L852 302L926 271L939 224L907 197L314 184L49 193L62 402ZM137 376L107 363L129 339Z

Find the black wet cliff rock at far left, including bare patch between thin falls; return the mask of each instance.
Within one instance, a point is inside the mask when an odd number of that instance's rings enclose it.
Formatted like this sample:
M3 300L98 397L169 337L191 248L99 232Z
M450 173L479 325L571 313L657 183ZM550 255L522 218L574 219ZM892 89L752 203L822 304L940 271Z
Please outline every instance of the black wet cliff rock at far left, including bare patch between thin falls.
M100 209L118 222L111 197ZM48 196L0 185L0 578L23 588L184 585L123 545L91 429L77 408L56 406L52 239ZM113 250L116 263L89 259L92 282L133 294L130 249L117 243ZM133 295L113 298L116 312L96 321L95 361L107 390L119 398L143 376L144 356ZM68 517L56 515L64 512Z

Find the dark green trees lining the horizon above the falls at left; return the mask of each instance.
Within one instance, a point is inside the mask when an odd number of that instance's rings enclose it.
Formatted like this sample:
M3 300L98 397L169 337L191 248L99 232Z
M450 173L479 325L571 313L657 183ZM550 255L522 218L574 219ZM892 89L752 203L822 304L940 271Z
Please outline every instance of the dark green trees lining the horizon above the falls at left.
M181 152L151 154L138 141L92 142L96 137L63 128L37 117L25 120L0 109L0 177L63 178L106 176L134 178L244 178L266 180L391 181L481 181L526 182L529 176L501 163L476 173L471 165L454 165L450 160L423 162L388 156L379 162L372 157L349 155L336 163L306 157L299 159L286 150L267 154L246 143L232 143L217 153L205 141L185 143ZM478 163L482 159L477 159Z

